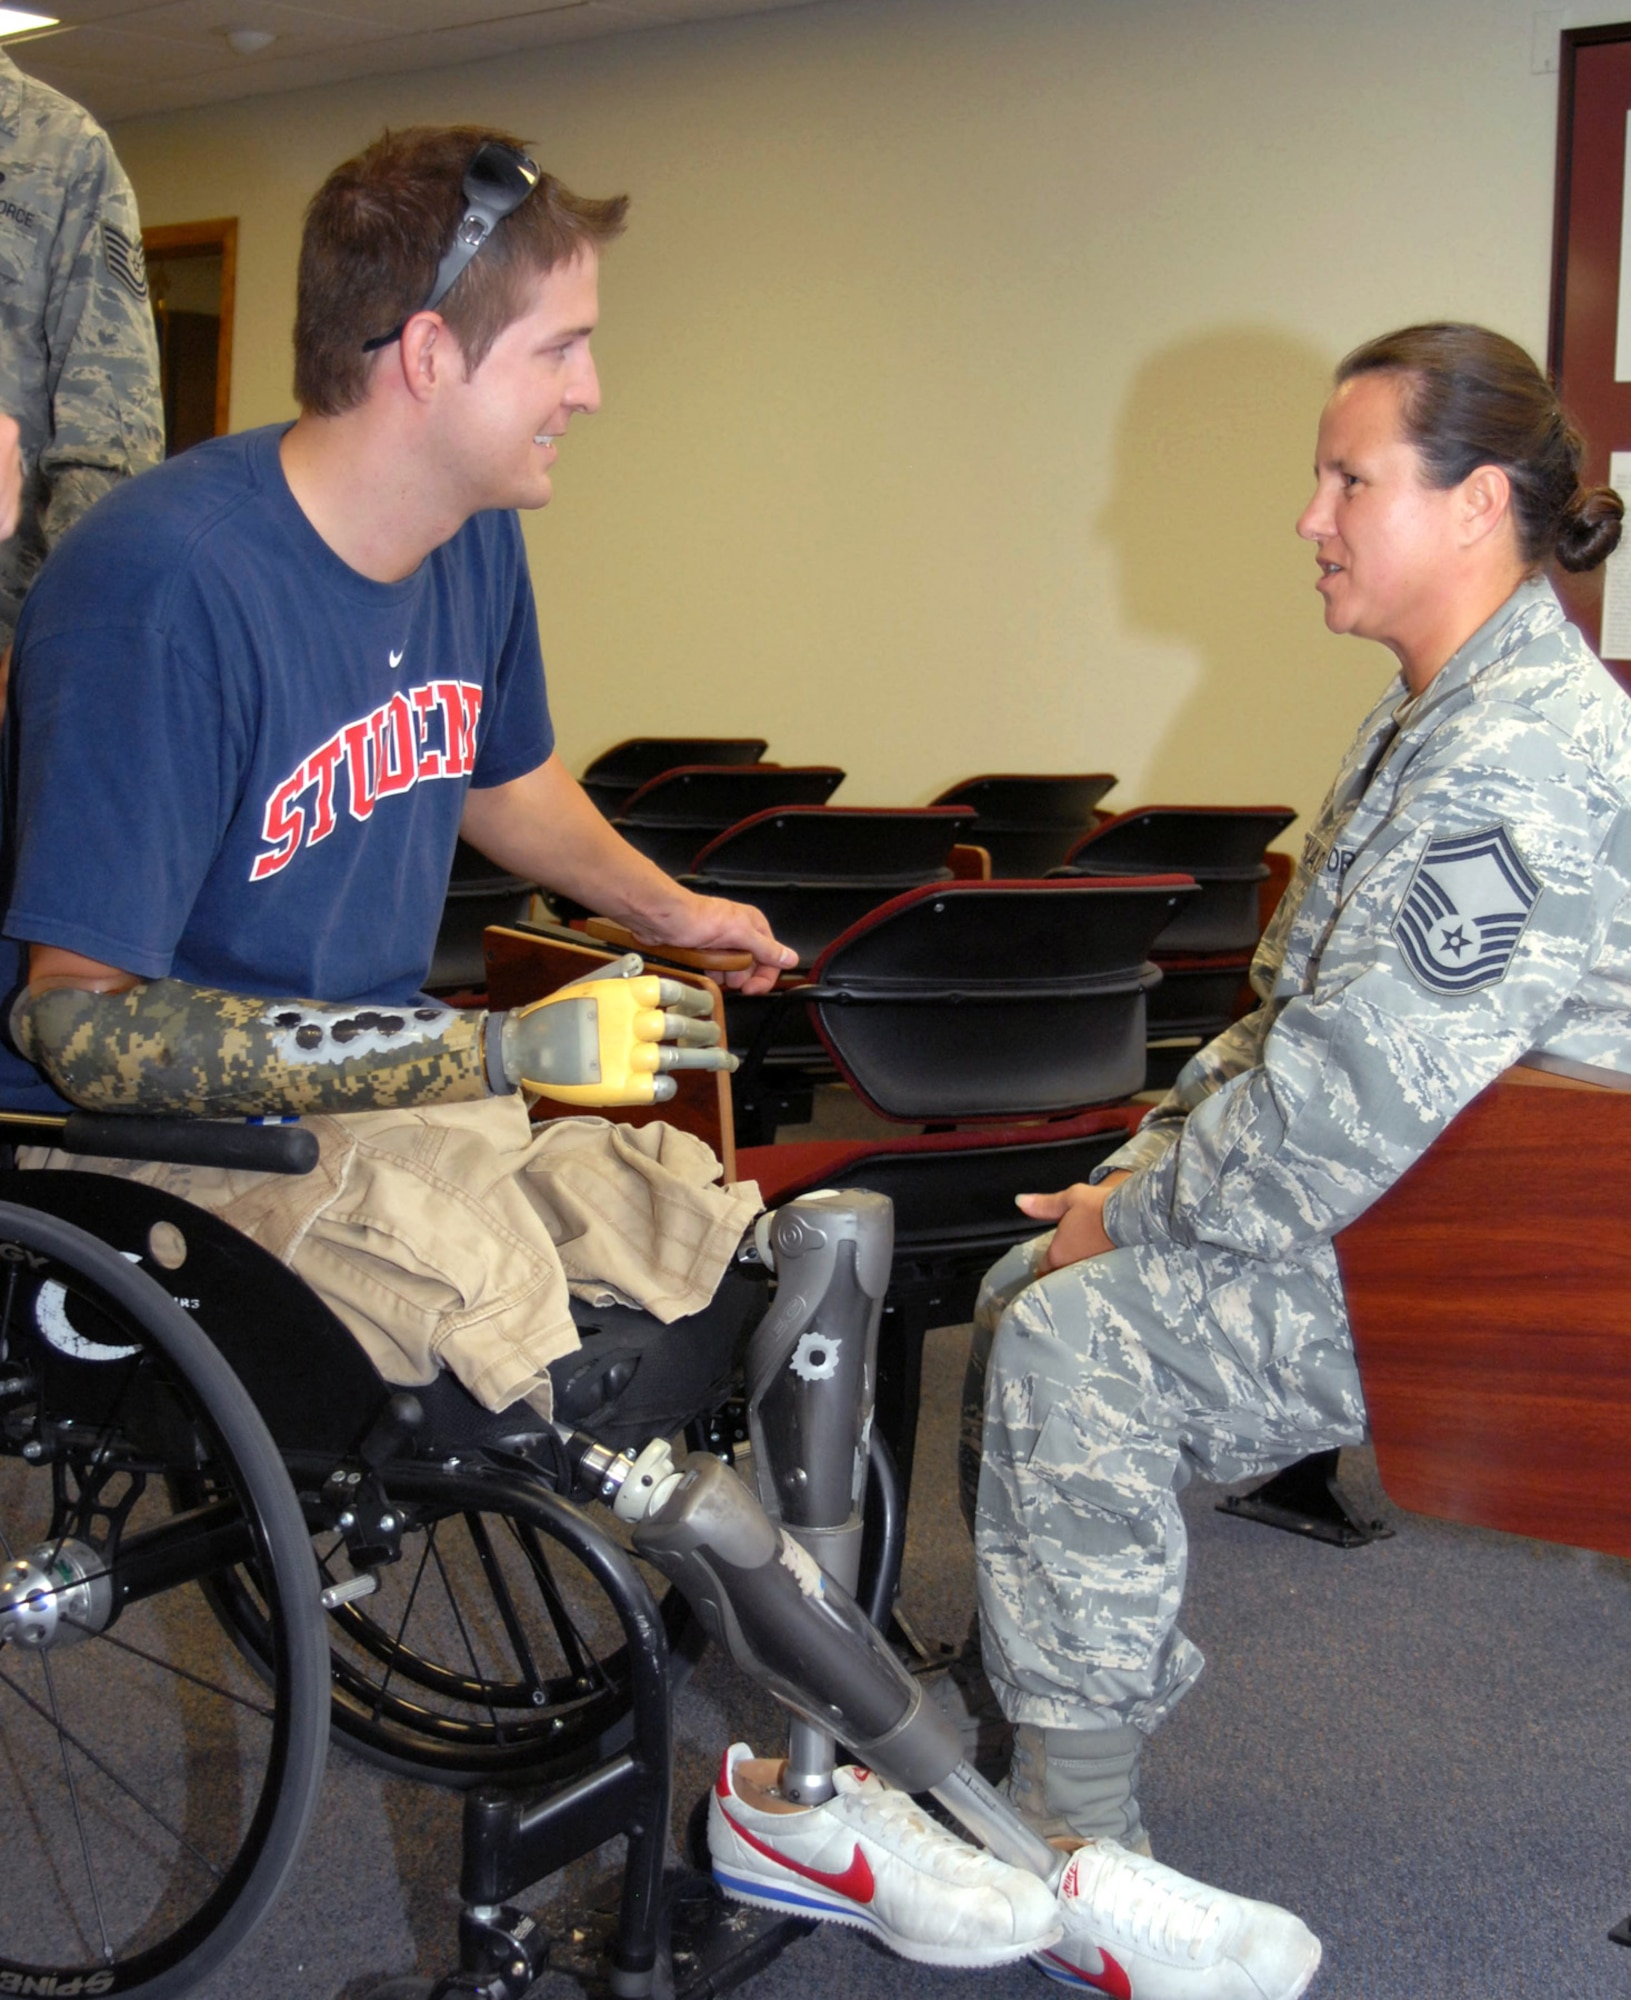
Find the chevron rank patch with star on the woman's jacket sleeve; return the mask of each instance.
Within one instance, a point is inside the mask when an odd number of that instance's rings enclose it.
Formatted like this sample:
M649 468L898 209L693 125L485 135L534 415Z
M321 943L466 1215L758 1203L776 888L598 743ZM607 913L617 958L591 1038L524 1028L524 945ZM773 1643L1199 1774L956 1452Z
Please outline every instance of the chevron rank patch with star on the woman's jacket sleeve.
M1427 992L1477 992L1507 976L1539 894L1505 826L1429 840L1393 936Z

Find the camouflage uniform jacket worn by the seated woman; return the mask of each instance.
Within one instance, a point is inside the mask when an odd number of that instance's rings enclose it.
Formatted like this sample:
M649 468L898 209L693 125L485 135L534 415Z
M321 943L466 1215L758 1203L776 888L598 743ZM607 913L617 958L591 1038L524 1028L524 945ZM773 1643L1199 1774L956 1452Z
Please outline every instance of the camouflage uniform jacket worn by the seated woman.
M1391 684L1251 982L1099 1170L1113 1242L1319 1258L1519 1058L1631 1074L1631 702L1549 584Z

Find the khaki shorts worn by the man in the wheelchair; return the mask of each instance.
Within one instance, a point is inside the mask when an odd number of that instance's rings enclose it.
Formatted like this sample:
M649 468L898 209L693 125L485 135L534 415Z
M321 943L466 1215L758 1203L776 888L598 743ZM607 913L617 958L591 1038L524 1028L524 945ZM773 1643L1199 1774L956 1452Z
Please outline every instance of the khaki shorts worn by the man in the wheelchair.
M758 1214L754 1182L674 1126L556 1118L516 1098L308 1118L312 1174L84 1160L28 1148L24 1166L168 1188L298 1272L388 1382L450 1368L490 1410L550 1414L550 1362L578 1346L570 1296L664 1322L714 1296Z

